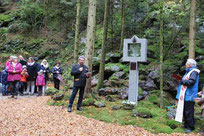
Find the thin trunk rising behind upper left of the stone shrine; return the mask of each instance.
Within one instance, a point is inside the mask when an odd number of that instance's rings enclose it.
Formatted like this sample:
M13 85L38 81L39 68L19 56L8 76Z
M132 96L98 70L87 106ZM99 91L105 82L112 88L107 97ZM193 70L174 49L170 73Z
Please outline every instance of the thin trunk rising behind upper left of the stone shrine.
M126 3L126 0L122 0L120 51L123 49L123 39L124 39L124 31L125 31L125 3Z

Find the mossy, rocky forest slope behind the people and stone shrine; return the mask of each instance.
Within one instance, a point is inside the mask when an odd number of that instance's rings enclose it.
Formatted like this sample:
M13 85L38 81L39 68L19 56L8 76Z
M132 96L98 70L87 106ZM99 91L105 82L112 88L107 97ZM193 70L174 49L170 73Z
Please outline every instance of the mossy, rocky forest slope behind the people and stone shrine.
M105 44L104 87L117 87L119 92L124 90L124 87L128 87L129 63L121 61L120 47L121 19L124 15L124 38L136 35L148 40L147 62L139 63L139 94L150 95L149 100L159 105L162 19L163 90L165 91L164 107L167 107L174 103L178 85L172 75L182 76L185 73L185 63L189 55L190 0L164 0L162 12L160 2L159 0L126 0L125 2L110 0ZM78 55L85 55L88 6L88 0L81 0ZM103 44L105 0L96 0L96 9L93 92L98 90L96 84ZM0 0L0 68L4 67L10 55L22 55L26 59L30 56L38 57L39 63L42 59L47 59L50 68L56 61L60 61L64 70L65 86L71 87L73 77L70 75L70 69L74 63L76 12L77 0ZM204 86L203 58L204 1L197 0L195 59L201 70L199 90ZM146 104L149 105L149 103ZM158 126L158 129L161 127ZM157 132L166 133L172 130Z

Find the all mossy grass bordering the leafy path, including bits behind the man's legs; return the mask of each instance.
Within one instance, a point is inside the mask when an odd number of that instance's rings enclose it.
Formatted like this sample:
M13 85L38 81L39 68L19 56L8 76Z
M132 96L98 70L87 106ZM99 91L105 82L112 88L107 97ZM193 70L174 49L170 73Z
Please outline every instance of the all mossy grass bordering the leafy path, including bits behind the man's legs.
M67 95L69 92L66 92ZM119 125L134 125L137 127L143 127L146 130L153 133L184 133L185 129L181 128L182 124L170 120L167 118L167 111L165 109L160 109L156 103L159 103L159 97L157 96L158 90L152 91L152 96L150 100L143 100L138 102L138 106L133 110L124 110L123 108L119 110L111 110L115 105L123 105L122 100L116 99L114 102L107 102L105 97L100 97L100 101L103 102L106 107L96 108L92 106L92 103L96 101L91 95L84 99L83 111L76 111L77 114L86 116L88 118L94 118L96 120L104 121L107 123L116 123ZM117 97L117 95L111 95ZM78 98L75 98L74 109L77 105ZM48 105L54 106L68 106L68 100L63 99L61 101L48 100ZM90 106L91 105L91 106ZM199 109L199 107L196 107ZM146 115L152 115L152 118L141 118L141 117L132 117L134 111L144 113ZM198 114L198 113L196 113ZM201 118L196 118L195 124L195 133L200 132L203 127L203 120Z

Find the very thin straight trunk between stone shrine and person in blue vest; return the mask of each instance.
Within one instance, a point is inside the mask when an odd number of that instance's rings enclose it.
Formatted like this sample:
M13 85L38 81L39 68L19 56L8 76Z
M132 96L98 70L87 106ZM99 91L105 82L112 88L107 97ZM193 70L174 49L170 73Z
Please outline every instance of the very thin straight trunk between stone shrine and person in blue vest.
M163 2L160 2L160 108L164 107L163 91L163 40L164 40Z

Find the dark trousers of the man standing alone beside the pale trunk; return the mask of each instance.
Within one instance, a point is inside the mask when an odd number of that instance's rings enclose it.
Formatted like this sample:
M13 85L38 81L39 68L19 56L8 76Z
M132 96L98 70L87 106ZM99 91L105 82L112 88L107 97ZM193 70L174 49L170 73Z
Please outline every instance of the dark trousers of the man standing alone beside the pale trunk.
M84 87L76 87L76 86L73 86L73 92L72 92L72 95L71 95L71 98L69 99L69 106L68 107L72 107L73 103L74 103L74 99L75 99L75 96L78 92L78 89L80 90L79 91L79 99L78 99L78 104L77 104L77 107L80 108L81 107L81 103L82 103L82 100L83 100L83 96L84 96Z

